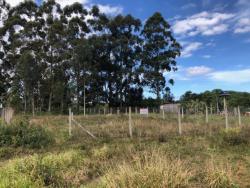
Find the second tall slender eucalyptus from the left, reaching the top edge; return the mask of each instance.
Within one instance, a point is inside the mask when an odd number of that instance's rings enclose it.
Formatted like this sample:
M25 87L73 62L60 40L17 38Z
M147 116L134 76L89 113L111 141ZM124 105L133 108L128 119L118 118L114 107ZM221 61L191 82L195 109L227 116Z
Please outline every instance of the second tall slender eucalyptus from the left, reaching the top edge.
M66 27L62 22L63 11L54 0L44 1L40 6L41 22L43 23L43 61L46 63L44 71L44 88L48 88L44 93L44 100L47 100L48 112L51 112L53 97L62 102L64 92L64 82L67 80L64 74L65 63L67 63L67 40L65 38ZM46 87L47 86L47 87ZM61 87L59 87L61 86ZM57 90L60 89L60 92ZM60 97L54 96L59 94ZM56 101L58 102L58 101ZM63 103L59 105L63 106Z

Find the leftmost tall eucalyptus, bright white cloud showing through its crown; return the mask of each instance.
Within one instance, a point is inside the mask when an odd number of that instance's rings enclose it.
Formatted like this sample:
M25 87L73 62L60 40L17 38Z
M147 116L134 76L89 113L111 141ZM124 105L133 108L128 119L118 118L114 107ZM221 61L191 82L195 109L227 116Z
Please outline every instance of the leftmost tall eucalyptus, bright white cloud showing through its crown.
M5 63L8 64L7 72L12 76L11 83L13 87L10 90L10 99L20 96L23 99L25 111L27 110L27 103L29 103L33 113L35 109L35 91L37 85L30 86L28 83L31 82L24 83L24 80L27 80L27 78L22 76L29 74L18 75L17 72L19 71L18 69L22 67L20 64L25 64L25 60L30 60L28 58L24 58L22 61L20 60L21 56L26 52L29 52L30 55L34 57L32 60L38 62L38 46L40 46L38 31L40 28L37 21L37 12L38 7L33 1L24 1L10 10L9 17L3 28L3 32L9 39L7 45L4 46L7 54L4 59ZM35 70L34 67L30 68ZM37 75L34 76L31 74L28 79L36 80L36 76ZM29 101L27 99L29 99Z

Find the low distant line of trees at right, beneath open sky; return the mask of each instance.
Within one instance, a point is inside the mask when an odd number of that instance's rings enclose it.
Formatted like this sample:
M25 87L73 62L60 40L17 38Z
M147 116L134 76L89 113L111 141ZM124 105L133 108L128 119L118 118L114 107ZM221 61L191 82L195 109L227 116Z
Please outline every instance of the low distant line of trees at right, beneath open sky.
M180 103L186 108L197 107L197 105L204 109L204 105L212 108L214 112L223 111L223 96L221 94L224 91L221 89L215 89L212 91L205 91L203 93L193 93L192 91L187 91L180 98ZM227 99L227 105L231 110L234 107L240 106L245 110L250 109L250 93L248 92L237 92L237 91L227 91L229 94Z

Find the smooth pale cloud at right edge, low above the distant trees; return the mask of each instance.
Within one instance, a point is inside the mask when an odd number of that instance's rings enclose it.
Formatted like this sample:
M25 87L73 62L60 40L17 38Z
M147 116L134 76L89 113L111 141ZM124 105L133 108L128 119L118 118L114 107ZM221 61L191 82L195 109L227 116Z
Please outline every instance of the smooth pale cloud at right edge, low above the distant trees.
M216 71L208 74L213 81L243 84L250 83L250 69L233 70L233 71Z

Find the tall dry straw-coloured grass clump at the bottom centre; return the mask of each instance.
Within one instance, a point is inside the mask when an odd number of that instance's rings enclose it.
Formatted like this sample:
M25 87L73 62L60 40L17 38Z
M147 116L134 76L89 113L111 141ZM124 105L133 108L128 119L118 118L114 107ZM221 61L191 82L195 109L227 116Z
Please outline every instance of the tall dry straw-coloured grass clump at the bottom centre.
M171 161L159 151L142 152L121 162L102 178L102 187L187 187L191 171L180 160Z

